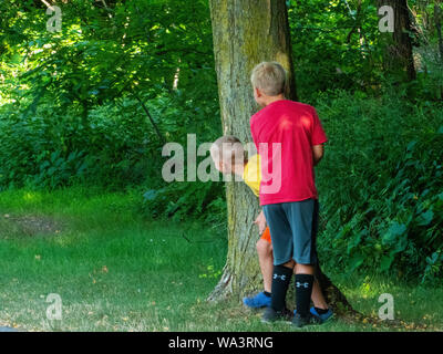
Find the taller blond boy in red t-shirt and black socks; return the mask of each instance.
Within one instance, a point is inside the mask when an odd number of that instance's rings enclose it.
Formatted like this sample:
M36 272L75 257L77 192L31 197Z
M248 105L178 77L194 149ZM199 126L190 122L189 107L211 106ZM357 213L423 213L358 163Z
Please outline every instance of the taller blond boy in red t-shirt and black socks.
M251 75L254 97L264 107L250 118L261 156L260 205L272 235L271 305L264 322L286 316L286 293L296 274L297 310L292 324L321 323L329 309L309 311L317 260L318 195L313 167L328 139L313 107L285 98L287 74L276 62L257 65Z

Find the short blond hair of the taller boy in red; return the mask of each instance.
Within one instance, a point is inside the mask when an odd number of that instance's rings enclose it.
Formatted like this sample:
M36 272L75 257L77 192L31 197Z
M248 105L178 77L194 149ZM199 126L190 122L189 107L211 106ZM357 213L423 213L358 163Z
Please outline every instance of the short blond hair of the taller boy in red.
M262 62L254 67L250 82L266 95L278 96L286 91L287 73L280 63Z

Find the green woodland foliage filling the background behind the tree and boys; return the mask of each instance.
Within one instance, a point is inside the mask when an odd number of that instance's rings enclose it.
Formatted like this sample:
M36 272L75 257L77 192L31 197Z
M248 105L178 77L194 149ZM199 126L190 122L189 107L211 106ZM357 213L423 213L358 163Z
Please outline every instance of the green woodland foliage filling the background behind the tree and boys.
M61 32L48 31L45 3L62 10ZM330 138L320 249L349 270L432 279L443 268L443 4L406 3L411 82L387 70L378 1L287 1L298 96ZM135 186L148 216L222 222L222 184L161 176L163 142L222 135L207 0L8 0L0 13L0 190Z

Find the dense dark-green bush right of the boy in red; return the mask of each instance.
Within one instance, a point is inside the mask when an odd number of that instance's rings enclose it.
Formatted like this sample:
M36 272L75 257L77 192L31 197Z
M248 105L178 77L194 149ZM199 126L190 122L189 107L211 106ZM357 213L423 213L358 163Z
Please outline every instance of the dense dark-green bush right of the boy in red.
M443 273L443 111L401 96L339 93L318 111L329 136L317 170L331 264L423 280Z

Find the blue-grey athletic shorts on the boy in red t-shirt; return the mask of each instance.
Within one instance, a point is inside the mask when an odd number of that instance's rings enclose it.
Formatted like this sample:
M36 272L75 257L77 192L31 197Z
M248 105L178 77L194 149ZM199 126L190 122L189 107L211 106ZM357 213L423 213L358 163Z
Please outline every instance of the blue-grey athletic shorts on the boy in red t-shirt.
M272 236L275 266L287 263L291 259L300 264L317 263L317 199L269 204L264 206L264 212Z

